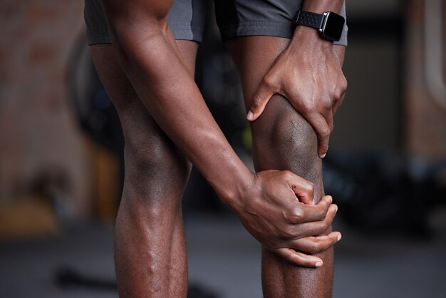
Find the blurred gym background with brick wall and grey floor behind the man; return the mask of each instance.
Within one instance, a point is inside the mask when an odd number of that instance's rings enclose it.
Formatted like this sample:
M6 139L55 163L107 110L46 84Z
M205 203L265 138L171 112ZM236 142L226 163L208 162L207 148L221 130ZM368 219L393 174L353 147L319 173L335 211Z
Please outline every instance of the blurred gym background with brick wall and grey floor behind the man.
M446 297L446 2L347 1L348 93L324 165L333 297ZM123 137L83 1L0 5L0 297L118 297ZM209 17L197 83L250 165L232 58ZM261 297L260 250L199 173L183 200L190 297Z

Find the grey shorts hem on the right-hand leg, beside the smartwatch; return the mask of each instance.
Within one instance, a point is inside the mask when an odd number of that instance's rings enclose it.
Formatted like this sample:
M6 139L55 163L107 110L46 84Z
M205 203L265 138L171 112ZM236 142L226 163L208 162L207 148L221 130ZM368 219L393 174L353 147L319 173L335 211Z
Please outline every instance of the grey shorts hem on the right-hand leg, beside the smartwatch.
M333 44L347 46L346 30L343 38ZM226 42L241 36L274 36L291 39L294 34L294 25L290 22L248 21L234 25L221 26L220 35Z

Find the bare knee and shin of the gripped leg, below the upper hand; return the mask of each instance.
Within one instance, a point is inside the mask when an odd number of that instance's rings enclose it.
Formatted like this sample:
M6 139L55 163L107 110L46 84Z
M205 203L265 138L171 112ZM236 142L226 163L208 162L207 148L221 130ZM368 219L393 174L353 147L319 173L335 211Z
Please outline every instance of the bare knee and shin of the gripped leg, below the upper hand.
M262 121L252 125L254 160L259 170L291 170L314 183L315 198L323 195L321 159L313 128L281 96L271 99ZM269 125L274 123L273 125ZM268 250L262 251L265 297L331 297L333 250L317 255L323 267L296 267Z

